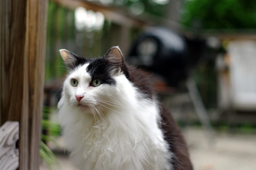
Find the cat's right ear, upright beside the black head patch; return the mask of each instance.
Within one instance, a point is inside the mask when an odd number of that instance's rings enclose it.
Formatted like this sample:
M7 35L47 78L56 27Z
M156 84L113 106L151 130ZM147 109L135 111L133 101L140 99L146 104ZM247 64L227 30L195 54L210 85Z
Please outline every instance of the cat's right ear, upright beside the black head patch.
M105 58L107 60L107 64L111 66L110 68L115 73L119 73L123 70L123 67L124 67L123 54L118 46L112 47L111 49L109 49L105 55Z

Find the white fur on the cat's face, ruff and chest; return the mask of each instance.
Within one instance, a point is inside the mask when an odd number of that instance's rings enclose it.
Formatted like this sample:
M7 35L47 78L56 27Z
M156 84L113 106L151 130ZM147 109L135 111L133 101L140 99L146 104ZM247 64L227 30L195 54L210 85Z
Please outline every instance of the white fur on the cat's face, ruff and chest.
M159 128L157 102L145 98L123 73L114 76L116 85L88 86L91 77L87 66L79 66L68 75L58 103L63 137L77 168L172 169L172 153ZM79 82L77 87L70 84L72 78ZM83 104L97 105L94 111L76 106L75 95L84 95Z

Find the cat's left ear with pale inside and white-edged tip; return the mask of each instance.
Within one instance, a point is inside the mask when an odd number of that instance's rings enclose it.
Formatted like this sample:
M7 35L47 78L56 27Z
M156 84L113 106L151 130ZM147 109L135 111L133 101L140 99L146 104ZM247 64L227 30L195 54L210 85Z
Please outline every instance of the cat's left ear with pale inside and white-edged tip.
M59 52L67 66L74 68L79 57L65 49L59 50Z

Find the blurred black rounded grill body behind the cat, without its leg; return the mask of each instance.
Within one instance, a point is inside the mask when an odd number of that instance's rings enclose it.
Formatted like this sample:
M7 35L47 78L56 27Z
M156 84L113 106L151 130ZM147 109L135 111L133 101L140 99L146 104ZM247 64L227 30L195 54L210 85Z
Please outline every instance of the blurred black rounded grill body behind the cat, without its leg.
M127 60L132 65L163 76L176 87L203 54L205 42L189 40L168 28L152 27L132 45Z

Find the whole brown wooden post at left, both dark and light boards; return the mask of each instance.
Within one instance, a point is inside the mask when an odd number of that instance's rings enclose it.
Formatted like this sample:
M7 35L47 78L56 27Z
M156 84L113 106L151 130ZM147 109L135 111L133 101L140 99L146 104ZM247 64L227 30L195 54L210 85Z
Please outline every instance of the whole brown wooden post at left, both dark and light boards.
M20 122L20 170L38 170L47 0L0 1L0 116Z

